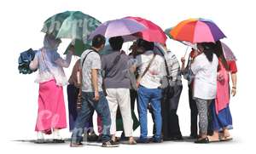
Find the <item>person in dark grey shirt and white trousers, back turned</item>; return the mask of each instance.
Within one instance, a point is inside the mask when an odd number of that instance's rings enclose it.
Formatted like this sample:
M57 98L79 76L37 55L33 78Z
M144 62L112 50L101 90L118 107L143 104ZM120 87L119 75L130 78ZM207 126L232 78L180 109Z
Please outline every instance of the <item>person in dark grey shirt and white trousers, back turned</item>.
M124 51L121 51L124 43L122 37L111 37L109 43L113 52L102 56L102 70L105 71L104 83L112 122L110 134L112 134L112 140L115 140L116 112L119 106L124 122L125 136L129 137L129 143L134 145L136 141L132 137L129 57Z

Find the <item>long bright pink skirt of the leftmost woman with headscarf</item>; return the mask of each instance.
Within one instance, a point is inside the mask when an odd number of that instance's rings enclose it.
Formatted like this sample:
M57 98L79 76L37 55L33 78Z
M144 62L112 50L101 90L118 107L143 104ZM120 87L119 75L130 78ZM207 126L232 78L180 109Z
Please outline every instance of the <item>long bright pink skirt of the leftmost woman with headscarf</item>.
M36 131L51 134L51 128L67 128L63 89L55 80L39 83Z

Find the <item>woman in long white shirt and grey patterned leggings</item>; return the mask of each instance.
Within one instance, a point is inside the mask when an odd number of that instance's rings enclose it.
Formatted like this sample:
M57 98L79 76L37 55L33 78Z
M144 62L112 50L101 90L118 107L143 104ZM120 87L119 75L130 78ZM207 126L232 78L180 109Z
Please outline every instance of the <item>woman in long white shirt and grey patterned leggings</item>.
M218 58L213 54L215 43L199 43L191 70L195 74L193 97L199 113L200 138L195 143L208 143L207 110L217 92Z

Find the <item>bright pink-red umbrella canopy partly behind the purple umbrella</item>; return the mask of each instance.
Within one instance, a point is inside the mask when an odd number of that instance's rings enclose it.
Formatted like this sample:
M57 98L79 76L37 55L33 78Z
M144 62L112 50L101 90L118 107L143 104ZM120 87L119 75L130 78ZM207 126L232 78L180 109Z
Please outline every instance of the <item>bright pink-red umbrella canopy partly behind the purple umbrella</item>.
M160 26L157 26L150 20L145 20L140 17L125 17L125 19L131 19L136 20L137 22L143 24L143 26L146 26L147 29L144 31L137 32L135 36L143 38L146 41L149 42L156 42L156 43L166 43L166 33L160 28Z

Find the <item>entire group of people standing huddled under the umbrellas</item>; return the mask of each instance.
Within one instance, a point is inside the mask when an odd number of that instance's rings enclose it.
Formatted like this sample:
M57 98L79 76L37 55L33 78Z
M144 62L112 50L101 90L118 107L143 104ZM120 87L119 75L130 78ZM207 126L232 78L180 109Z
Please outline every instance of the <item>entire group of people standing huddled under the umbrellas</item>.
M163 140L183 140L177 116L182 93L182 76L188 80L191 109L191 134L195 143L230 140L232 128L230 91L236 94L236 61L226 60L221 43L198 43L192 48L189 60L182 66L165 44L137 39L131 54L121 48L123 37L110 37L110 54L99 54L106 38L96 35L91 48L84 51L73 66L67 80L63 67L70 65L74 48L69 48L65 60L57 53L60 39L46 34L41 48L30 64L38 69L39 83L38 141L51 134L55 142L63 142L59 130L67 128L63 97L67 85L69 127L73 132L70 146L79 147L84 140L102 141L103 147L115 147L119 140L130 145ZM164 52L156 52L160 48ZM233 86L230 88L230 76ZM137 101L138 120L134 106ZM152 115L154 136L148 138L148 117ZM97 113L99 135L93 127ZM197 117L199 116L199 134ZM121 120L121 122L120 122ZM140 125L140 137L133 138L133 130ZM121 123L121 128L118 128ZM123 130L120 138L117 129Z

